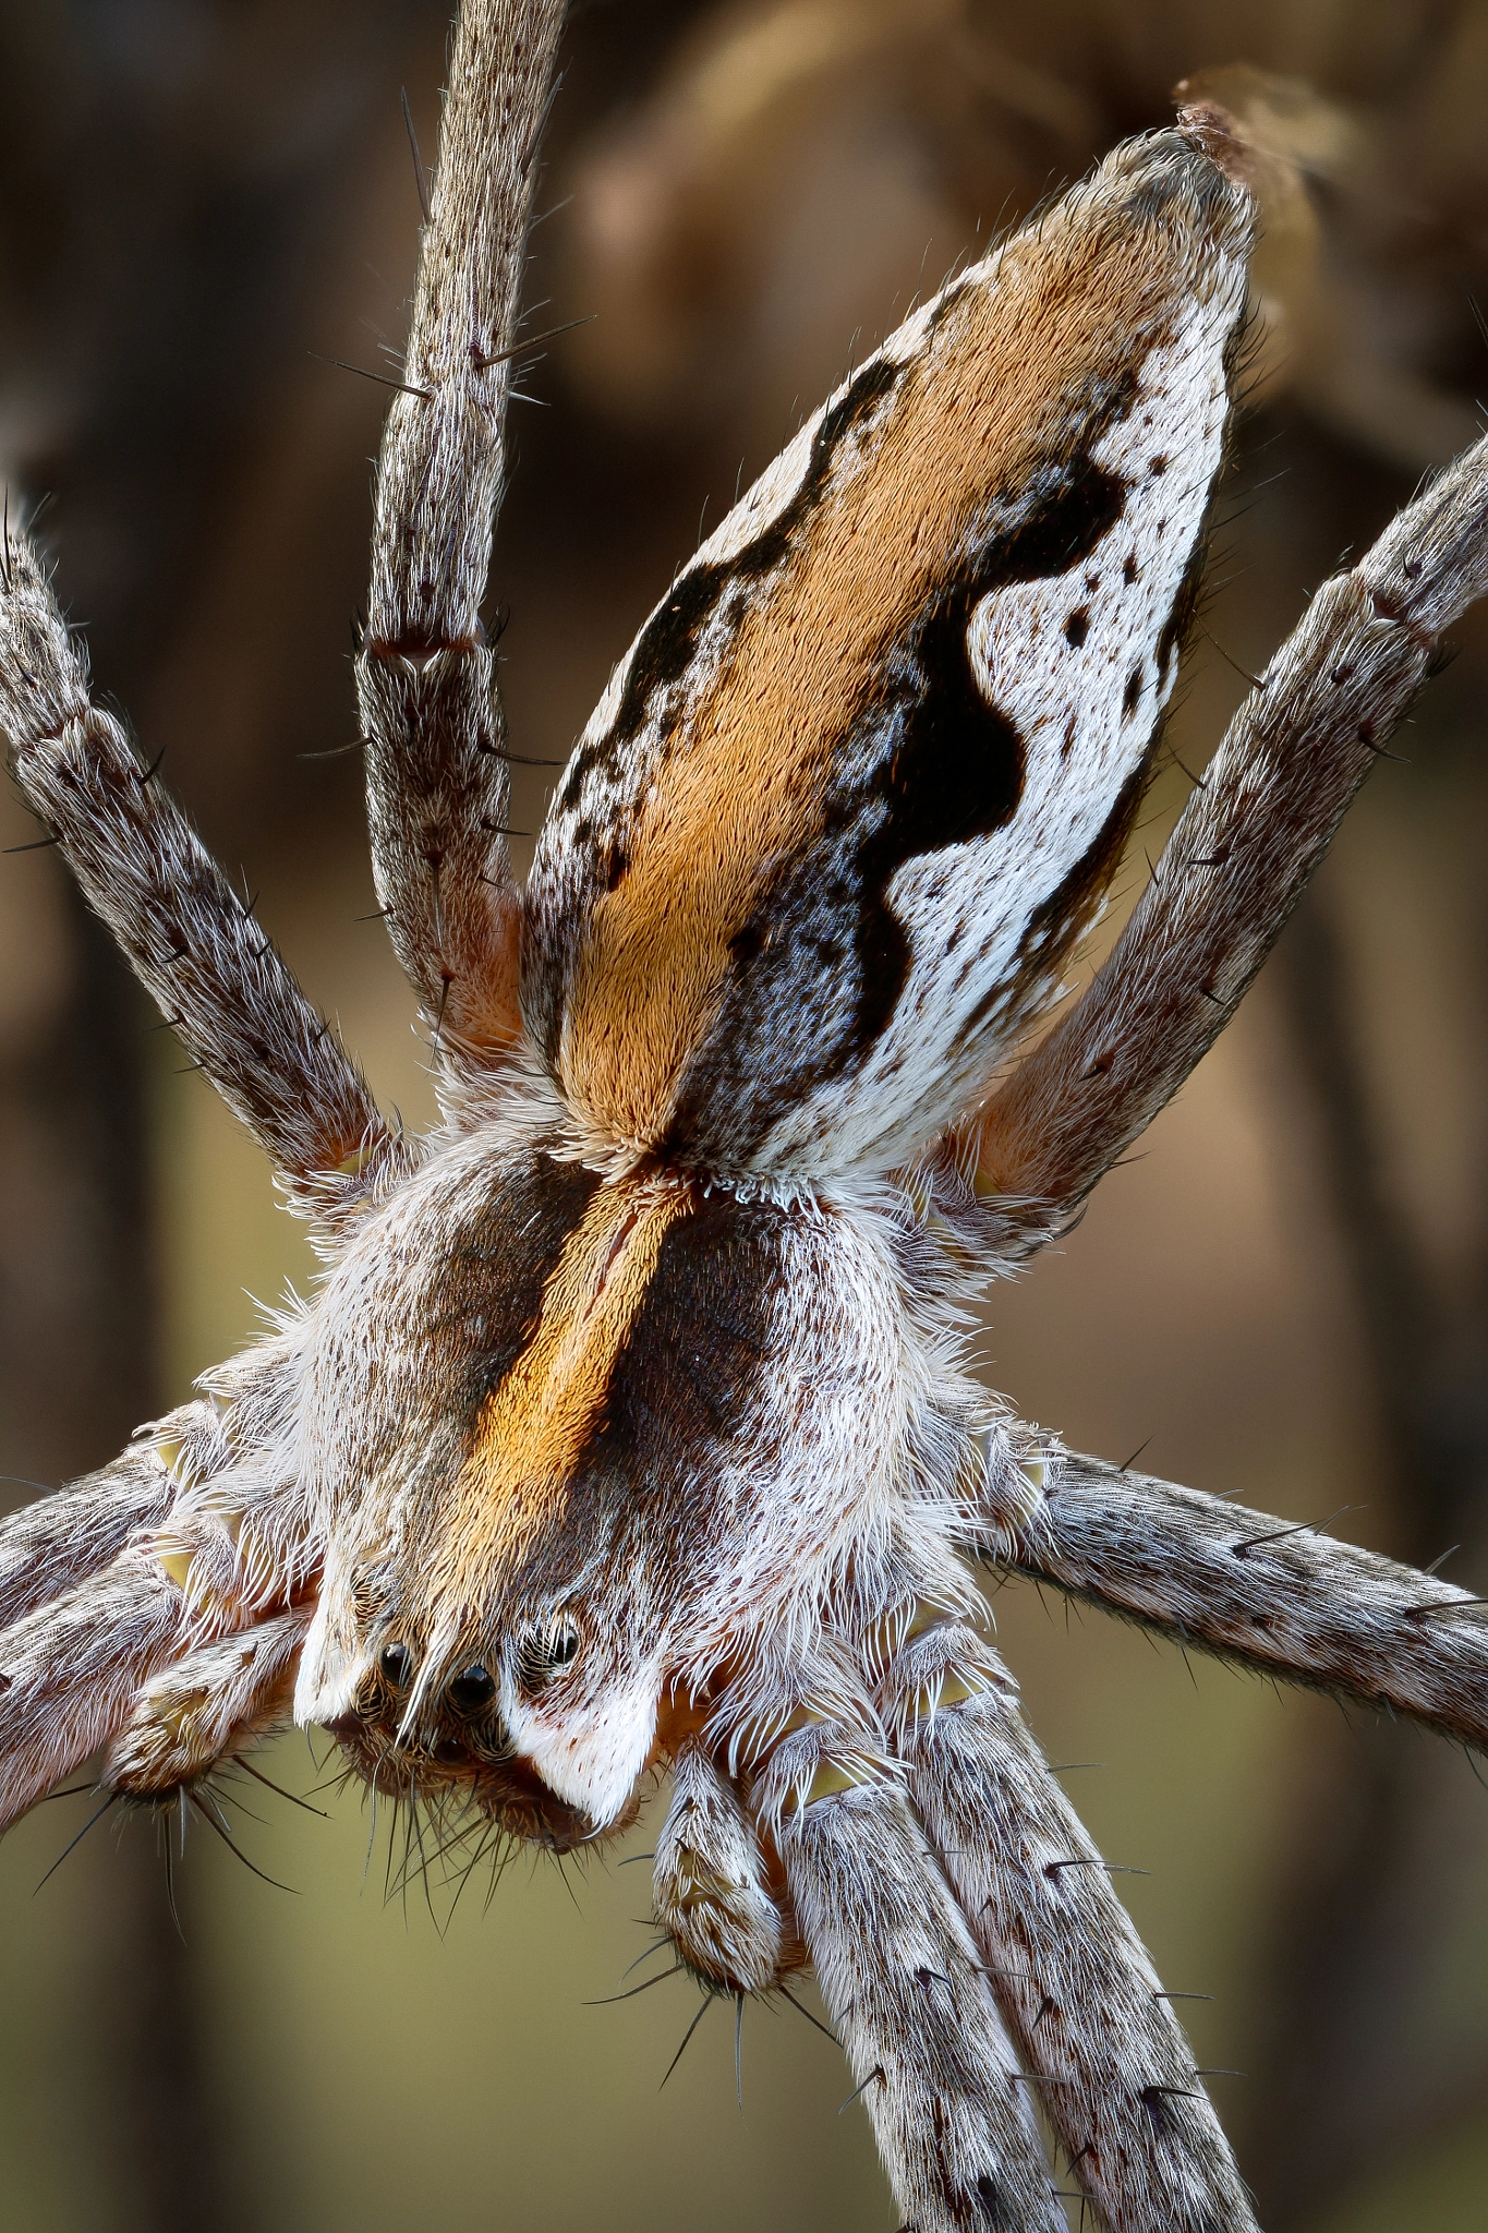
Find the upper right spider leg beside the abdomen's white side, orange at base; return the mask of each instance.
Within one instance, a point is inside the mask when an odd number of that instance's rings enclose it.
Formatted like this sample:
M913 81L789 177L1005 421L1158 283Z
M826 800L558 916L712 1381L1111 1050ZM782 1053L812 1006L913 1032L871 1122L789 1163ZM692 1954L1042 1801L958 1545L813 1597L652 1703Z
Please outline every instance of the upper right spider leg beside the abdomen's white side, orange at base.
M1488 587L1488 442L1466 451L1307 616L1245 699L1089 991L941 1143L1028 1253L1178 1092L1260 969L1343 811Z

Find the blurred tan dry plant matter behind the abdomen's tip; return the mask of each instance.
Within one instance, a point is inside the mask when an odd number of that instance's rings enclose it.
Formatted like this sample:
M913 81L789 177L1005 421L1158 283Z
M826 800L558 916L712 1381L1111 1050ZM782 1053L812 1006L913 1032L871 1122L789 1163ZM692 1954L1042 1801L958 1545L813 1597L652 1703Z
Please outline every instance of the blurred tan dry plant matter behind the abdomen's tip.
M576 172L576 362L622 420L763 438L785 380L841 375L852 313L879 333L1182 78L1269 156L1263 384L1446 464L1477 431L1486 67L1472 0L732 0Z

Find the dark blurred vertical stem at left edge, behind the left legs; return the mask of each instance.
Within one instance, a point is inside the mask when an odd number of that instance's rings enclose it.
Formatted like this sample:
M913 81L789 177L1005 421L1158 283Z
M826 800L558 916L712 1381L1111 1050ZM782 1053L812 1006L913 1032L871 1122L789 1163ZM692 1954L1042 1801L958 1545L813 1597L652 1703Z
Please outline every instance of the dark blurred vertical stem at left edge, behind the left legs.
M0 1416L7 1456L51 1480L85 1472L158 1387L143 1003L78 902L58 933L62 1003L0 1047ZM58 1820L58 1851L74 1827ZM89 2036L109 2079L91 2106L123 2222L201 2224L181 2177L190 2133L199 2193L221 2197L214 2222L230 2229L192 1963L154 1838L134 1824L118 1853L98 1842L74 1867L87 1885Z

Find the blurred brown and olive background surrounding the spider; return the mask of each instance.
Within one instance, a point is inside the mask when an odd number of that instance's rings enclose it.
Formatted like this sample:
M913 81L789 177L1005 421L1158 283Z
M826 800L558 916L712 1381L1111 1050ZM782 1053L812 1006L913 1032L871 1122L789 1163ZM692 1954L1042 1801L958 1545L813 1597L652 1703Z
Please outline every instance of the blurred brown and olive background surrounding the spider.
M433 156L448 0L0 9L0 471L51 491L100 683L373 1081L431 1110L364 857L348 623ZM1243 71L1236 65L1247 65ZM558 342L515 404L493 594L518 750L609 665L801 411L997 223L1218 89L1276 154L1254 409L1173 750L1196 768L1307 590L1477 427L1488 11L1426 0L593 4L542 190ZM1265 76L1260 76L1265 74ZM986 1369L1078 1447L1488 1590L1481 869L1488 634L1459 632L1240 1020L1144 1161L993 1297ZM330 757L308 757L330 755ZM1147 873L1173 766L1124 880ZM535 826L542 784L518 790ZM0 842L31 824L4 804ZM4 1496L105 1458L306 1280L257 1152L54 855L0 862ZM1339 1510L1345 1507L1345 1510ZM1446 1746L997 1599L1028 1708L1187 2003L1272 2233L1481 2226L1488 1791ZM303 1737L270 1773L319 1782ZM134 2229L892 2229L841 2059L750 2010L658 2081L680 1983L613 2007L645 1867L384 1903L352 1795L201 1824L38 1809L0 1880L0 2206ZM642 1829L631 1847L645 1851ZM370 1858L368 1858L370 1856ZM448 1891L435 1894L444 1923ZM642 1972L645 1974L645 1972ZM634 1978L631 1978L634 1983Z

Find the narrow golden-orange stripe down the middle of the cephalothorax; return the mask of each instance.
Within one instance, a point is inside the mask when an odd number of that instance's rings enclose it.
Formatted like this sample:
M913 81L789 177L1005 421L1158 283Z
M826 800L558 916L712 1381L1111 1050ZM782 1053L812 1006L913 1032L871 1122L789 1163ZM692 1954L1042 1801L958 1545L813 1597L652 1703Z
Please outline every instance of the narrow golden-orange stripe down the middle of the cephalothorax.
M689 1210L692 1195L676 1186L593 1195L549 1273L533 1338L480 1411L426 1561L431 1597L475 1606L495 1572L562 1523L660 1244Z

